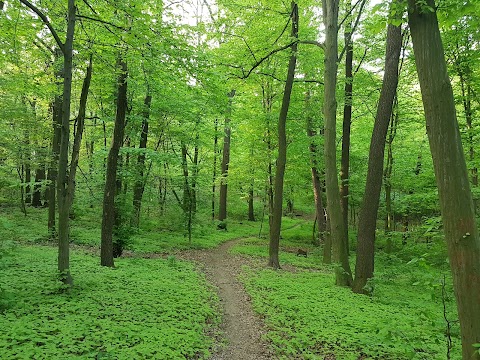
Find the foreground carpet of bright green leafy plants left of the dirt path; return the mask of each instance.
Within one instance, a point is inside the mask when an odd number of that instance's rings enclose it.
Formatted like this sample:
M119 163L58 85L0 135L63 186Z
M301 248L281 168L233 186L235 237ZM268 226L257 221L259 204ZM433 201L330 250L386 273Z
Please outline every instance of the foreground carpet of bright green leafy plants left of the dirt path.
M75 285L64 293L54 249L19 247L2 262L2 359L209 356L218 300L189 263L117 259L110 269L73 252Z

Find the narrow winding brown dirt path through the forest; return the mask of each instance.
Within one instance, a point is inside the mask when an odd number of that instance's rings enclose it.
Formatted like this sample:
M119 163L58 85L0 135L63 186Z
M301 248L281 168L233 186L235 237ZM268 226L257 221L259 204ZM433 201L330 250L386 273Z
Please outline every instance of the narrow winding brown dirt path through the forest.
M240 240L230 240L213 250L187 251L181 257L200 263L207 278L218 288L227 346L219 348L212 360L274 359L268 345L261 339L265 333L262 322L254 314L250 297L238 280L241 267L248 260L228 253Z

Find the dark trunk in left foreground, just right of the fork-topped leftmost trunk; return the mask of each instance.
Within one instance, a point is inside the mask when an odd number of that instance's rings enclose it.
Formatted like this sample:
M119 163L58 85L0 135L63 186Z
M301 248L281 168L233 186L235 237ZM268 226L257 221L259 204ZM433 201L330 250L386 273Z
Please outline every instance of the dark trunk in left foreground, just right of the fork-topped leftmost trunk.
M123 58L118 60L120 74L118 76L117 113L113 129L112 146L108 152L105 192L103 195L102 242L100 264L113 267L113 229L115 225L115 193L117 191L118 153L123 144L125 117L127 112L127 63Z

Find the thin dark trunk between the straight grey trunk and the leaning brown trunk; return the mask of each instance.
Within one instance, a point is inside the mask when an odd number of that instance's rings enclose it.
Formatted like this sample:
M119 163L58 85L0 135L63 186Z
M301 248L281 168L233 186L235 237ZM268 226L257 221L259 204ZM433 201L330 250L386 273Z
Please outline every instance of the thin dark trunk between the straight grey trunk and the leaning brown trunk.
M352 4L348 0L346 12L351 13ZM347 253L350 252L348 238L348 183L350 169L350 130L352 125L352 91L353 91L353 39L352 39L352 16L348 16L348 23L345 25L345 46L347 47L345 57L345 104L343 106L343 131L342 131L342 160L340 166L340 196L342 198L343 226L347 239Z

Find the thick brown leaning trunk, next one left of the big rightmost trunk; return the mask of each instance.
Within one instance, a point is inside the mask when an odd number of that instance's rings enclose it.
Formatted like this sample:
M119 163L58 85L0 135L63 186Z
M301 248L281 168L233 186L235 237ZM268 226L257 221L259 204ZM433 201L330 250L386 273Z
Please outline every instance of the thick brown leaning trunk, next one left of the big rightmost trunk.
M392 5L394 4L395 2L392 2ZM370 141L367 180L358 222L355 281L352 287L352 290L356 293L370 293L370 291L365 291L364 287L368 279L373 277L375 230L382 189L385 141L390 118L392 117L393 101L397 91L398 64L401 49L401 27L388 24L385 75L383 76L382 91L378 100L377 114Z

